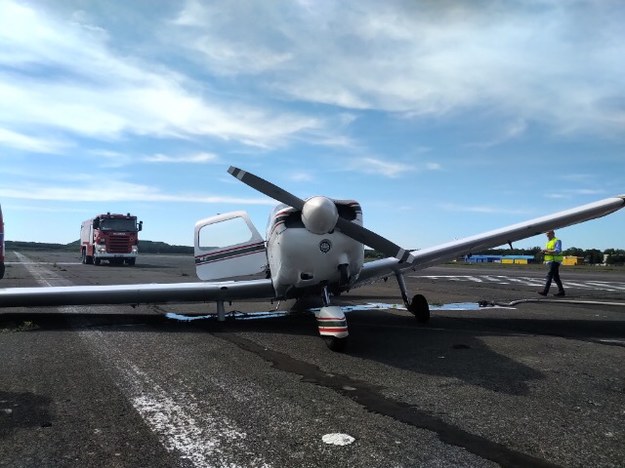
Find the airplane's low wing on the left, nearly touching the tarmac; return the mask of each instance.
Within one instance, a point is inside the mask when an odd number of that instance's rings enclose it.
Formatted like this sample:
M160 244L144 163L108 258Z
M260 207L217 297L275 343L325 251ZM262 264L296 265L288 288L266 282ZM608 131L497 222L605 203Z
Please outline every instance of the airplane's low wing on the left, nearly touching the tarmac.
M271 280L0 289L0 307L165 304L273 299Z

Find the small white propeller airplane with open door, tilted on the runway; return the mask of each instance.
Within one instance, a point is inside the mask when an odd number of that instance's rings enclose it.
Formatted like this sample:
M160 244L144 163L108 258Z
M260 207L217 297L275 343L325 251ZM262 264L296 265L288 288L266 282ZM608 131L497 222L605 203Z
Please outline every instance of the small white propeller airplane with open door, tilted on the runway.
M202 282L5 288L0 289L0 307L215 302L218 320L225 320L225 302L316 296L323 304L315 312L319 334L330 349L342 351L348 337L347 321L341 308L332 305L332 296L395 276L406 309L418 322L425 323L430 319L428 302L421 294L409 300L404 272L471 252L512 245L625 206L625 195L619 195L409 251L365 228L361 206L354 200L324 196L303 200L242 169L231 166L228 172L280 204L269 217L266 240L245 211L198 221L194 255L197 276ZM365 263L364 246L387 257ZM264 278L226 280L258 274L264 274Z

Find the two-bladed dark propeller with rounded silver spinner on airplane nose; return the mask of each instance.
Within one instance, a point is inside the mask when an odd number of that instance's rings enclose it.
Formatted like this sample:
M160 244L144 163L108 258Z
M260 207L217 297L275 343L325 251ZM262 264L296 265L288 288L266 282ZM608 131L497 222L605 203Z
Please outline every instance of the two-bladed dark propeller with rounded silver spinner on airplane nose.
M302 211L302 222L315 234L324 234L338 228L347 237L367 245L389 257L409 261L410 252L369 229L339 216L336 205L327 197L312 197L304 201L286 190L250 172L230 166L228 172L244 184L276 201Z

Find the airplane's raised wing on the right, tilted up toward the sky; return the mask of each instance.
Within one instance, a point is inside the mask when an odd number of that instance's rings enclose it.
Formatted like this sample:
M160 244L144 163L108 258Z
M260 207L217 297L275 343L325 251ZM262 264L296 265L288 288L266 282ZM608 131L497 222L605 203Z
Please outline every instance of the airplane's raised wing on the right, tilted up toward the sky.
M544 234L550 229L559 229L600 218L623 207L625 207L625 195L619 195L540 218L530 219L501 229L465 237L464 239L414 252L407 252L402 260L393 257L375 260L363 266L353 287L362 286L376 279L384 278L395 271L427 268L472 252L479 252L480 250L511 244L521 239Z

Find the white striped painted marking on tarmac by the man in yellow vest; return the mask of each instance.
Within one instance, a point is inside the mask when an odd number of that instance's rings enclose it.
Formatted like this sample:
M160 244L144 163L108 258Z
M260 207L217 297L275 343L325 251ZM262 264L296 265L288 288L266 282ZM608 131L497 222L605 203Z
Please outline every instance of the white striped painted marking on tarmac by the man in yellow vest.
M532 278L527 276L499 276L499 275L411 275L411 278L427 278L442 281L459 281L473 283L496 283L496 284L520 284L528 287L541 287L544 284L542 278ZM619 281L567 281L562 280L565 289L590 289L593 291L619 292L625 291L625 283Z

